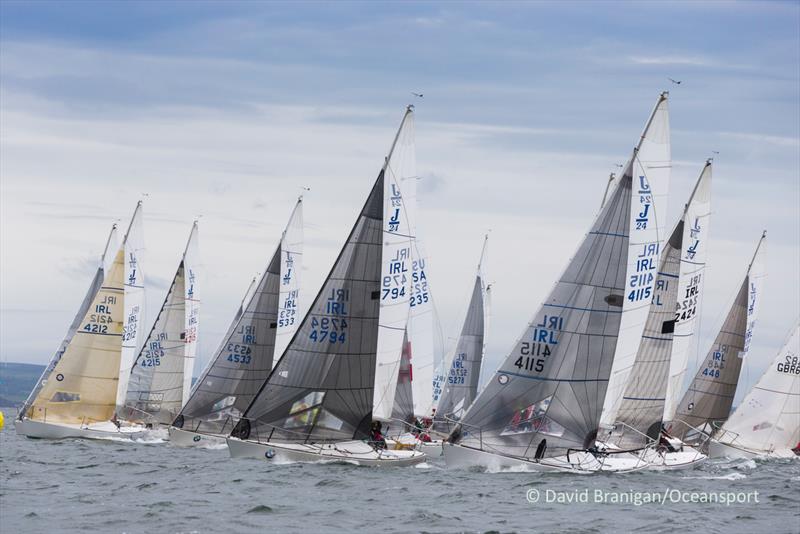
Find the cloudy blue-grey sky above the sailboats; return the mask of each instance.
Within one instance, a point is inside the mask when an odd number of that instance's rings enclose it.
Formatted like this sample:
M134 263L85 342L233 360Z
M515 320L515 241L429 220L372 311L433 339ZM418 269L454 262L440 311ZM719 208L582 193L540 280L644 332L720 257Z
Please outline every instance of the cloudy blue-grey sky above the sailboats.
M798 27L796 2L4 1L0 358L49 360L109 226L146 194L151 318L202 215L198 374L304 186L313 298L417 91L445 337L491 230L494 369L668 89L668 226L719 152L700 352L769 232L749 385L800 314Z

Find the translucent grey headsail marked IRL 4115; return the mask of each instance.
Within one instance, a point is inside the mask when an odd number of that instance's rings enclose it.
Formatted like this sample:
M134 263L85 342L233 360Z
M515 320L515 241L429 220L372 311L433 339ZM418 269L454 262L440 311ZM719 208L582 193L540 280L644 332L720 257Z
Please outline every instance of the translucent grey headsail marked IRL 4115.
M451 439L525 458L594 445L627 292L632 168Z

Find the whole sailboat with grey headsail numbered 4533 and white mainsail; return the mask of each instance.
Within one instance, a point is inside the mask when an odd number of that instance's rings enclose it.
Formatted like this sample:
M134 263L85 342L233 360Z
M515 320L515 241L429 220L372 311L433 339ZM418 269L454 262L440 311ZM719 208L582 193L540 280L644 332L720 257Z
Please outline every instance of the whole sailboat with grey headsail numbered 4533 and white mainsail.
M228 332L169 428L178 446L224 445L300 324L303 199L264 274L254 278Z

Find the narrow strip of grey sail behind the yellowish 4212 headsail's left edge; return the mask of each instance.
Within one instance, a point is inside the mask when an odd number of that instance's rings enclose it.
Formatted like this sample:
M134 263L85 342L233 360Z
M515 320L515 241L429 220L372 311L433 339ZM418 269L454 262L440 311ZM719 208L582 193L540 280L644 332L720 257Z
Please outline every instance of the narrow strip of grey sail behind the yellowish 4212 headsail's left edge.
M39 380L36 382L36 386L34 386L33 390L31 391L30 395L28 395L25 404L22 406L19 412L19 418L22 419L23 417L27 416L30 418L36 418L36 412L43 412L44 404L46 402L46 397L40 397L40 393L42 388L47 384L48 380L53 374L58 363L61 361L61 358L64 356L64 353L67 351L67 347L72 342L72 339L75 337L75 334L84 326L86 323L86 317L89 310L94 306L95 300L97 299L97 295L103 287L103 282L106 279L106 275L111 273L112 268L114 266L114 262L117 258L117 250L119 248L118 242L118 235L117 235L117 225L114 224L111 227L111 232L108 234L108 239L106 240L106 246L103 250L103 255L100 258L100 262L97 266L97 270L95 271L94 278L92 278L92 283L89 284L89 290L86 292L86 296L83 297L83 302L81 302L80 307L78 308L78 313L75 315L75 318L72 320L72 324L70 325L69 329L67 330L67 335L64 336L64 340L59 345L58 350L50 359L50 363L47 364L42 376L39 377ZM110 282L109 282L110 284ZM110 285L109 285L110 287ZM102 299L101 299L102 301ZM121 316L121 313L120 313ZM73 356L74 357L74 356ZM57 375L58 376L58 375ZM60 382L63 382L64 376L61 375L62 378ZM115 390L116 394L116 390ZM33 408L33 409L32 409ZM44 413L39 413L41 419L44 419Z

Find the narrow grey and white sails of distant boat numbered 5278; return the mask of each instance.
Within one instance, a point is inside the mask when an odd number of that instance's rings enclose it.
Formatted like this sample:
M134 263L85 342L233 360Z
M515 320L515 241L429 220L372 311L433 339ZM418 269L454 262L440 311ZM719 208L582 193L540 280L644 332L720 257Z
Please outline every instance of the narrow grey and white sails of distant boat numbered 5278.
M480 371L486 346L485 301L489 288L484 273L484 260L488 242L489 236L487 235L483 240L481 259L478 262L478 271L472 286L472 295L464 324L461 327L461 334L450 358L450 369L444 382L444 393L436 410L437 420L460 419L478 395Z

